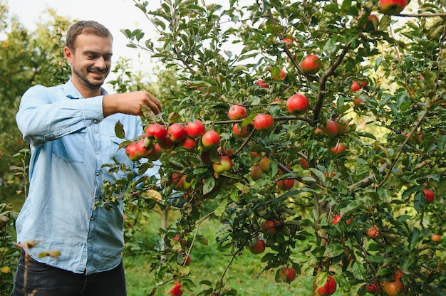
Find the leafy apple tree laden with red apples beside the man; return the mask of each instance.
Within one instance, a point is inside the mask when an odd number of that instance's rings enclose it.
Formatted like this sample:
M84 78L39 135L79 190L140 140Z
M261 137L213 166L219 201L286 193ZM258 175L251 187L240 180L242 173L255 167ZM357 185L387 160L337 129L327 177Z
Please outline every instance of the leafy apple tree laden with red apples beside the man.
M446 7L406 4L135 0L148 21L123 30L129 46L170 75L145 134L116 133L159 176L105 190L129 210L175 209L152 250L168 283L153 295L195 289L187 256L209 218L228 268L251 251L277 281L293 285L284 268L313 277L313 295L445 294ZM237 293L224 273L199 280L195 295Z

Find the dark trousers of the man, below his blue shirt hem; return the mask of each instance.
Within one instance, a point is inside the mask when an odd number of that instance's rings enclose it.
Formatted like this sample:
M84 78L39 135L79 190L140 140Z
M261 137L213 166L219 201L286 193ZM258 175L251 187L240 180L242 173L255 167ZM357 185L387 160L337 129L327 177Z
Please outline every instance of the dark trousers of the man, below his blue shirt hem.
M124 266L103 273L83 275L38 263L28 256L26 293L24 292L24 252L14 278L11 296L125 296ZM34 294L33 294L33 291Z

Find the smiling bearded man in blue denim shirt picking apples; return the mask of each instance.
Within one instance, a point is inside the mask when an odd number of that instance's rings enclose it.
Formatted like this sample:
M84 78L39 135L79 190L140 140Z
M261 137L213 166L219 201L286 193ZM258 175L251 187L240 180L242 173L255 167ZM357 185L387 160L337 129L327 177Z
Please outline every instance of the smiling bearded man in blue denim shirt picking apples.
M110 72L113 36L95 21L79 21L67 32L71 80L23 95L16 121L31 144L28 197L16 221L24 248L12 295L126 295L122 263L123 206L95 206L103 197L103 164L132 165L114 134L118 120L126 136L142 134L141 107L159 113L160 102L140 91L108 95L101 87ZM39 254L60 251L58 257ZM25 271L28 260L28 271ZM24 291L26 288L26 291Z

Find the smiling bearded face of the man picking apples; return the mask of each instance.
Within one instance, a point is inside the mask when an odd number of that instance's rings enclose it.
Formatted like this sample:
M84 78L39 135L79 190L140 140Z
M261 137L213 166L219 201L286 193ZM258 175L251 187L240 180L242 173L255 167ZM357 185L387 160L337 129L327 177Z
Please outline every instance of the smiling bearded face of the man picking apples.
M110 73L112 38L81 34L76 38L76 48L64 49L71 65L73 83L77 87L97 90Z

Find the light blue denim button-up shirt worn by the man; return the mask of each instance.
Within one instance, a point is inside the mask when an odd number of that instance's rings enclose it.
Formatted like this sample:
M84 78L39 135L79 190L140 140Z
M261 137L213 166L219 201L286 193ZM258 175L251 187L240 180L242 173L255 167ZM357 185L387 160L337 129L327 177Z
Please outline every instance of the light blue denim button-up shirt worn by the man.
M84 99L73 83L36 85L21 98L16 121L31 144L29 191L16 221L17 240L39 243L29 255L73 273L115 268L122 259L123 205L98 206L103 180L117 179L103 164L112 157L132 162L118 145L115 123L127 139L143 133L140 117L114 114L104 118L103 96ZM148 173L155 173L155 169ZM156 173L155 173L156 174ZM58 258L38 258L59 250Z

